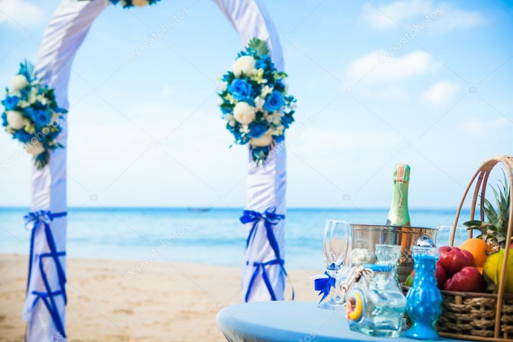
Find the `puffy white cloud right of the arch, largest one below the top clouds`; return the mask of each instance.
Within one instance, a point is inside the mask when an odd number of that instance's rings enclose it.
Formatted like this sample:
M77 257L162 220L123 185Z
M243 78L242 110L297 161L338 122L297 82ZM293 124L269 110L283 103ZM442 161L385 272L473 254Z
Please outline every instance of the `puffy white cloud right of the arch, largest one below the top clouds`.
M394 57L379 64L379 52L371 52L349 63L347 78L354 83L383 84L423 75L436 70L440 64L425 51L413 51L404 57Z

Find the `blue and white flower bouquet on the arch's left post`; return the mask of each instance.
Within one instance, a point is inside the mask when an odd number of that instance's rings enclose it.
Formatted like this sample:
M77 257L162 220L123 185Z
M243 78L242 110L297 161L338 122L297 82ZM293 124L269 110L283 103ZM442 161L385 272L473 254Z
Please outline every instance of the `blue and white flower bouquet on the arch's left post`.
M56 138L62 131L60 123L67 110L57 106L53 89L38 81L34 66L28 61L20 64L11 88L6 88L2 105L2 126L13 139L24 144L34 157L34 165L41 170L48 163L49 151L63 147Z

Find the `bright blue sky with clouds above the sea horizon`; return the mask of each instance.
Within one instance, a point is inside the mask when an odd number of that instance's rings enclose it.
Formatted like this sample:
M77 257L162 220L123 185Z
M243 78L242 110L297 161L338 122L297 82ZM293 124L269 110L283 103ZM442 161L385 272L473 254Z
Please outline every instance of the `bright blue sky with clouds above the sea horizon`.
M484 159L513 154L511 2L263 3L298 98L296 125L315 118L288 149L289 207L387 207L402 162L412 169L410 207L454 208ZM0 85L23 58L35 61L57 4L0 2ZM172 30L125 63L184 8ZM436 18L424 25L426 15ZM405 39L412 27L415 39ZM244 206L246 150L228 148L214 94L240 48L210 0L109 6L72 66L69 204ZM5 161L19 145L0 138ZM29 204L30 163L25 155L0 173L0 206Z

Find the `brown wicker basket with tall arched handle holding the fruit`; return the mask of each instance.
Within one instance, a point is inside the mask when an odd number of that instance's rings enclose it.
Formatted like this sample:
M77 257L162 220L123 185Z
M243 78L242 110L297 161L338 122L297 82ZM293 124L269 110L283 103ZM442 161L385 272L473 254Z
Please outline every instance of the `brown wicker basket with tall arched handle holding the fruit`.
M450 235L450 246L454 244L456 226L460 218L461 208L465 198L476 182L470 206L470 220L474 219L478 195L481 194L481 207L484 205L486 185L491 169L498 163L506 168L509 177L509 223L506 241L511 240L513 231L513 157L499 156L486 160L474 174L468 184L460 206L456 212L456 218ZM481 220L484 221L484 212L480 209ZM472 237L469 231L468 237ZM508 260L509 245L506 244L504 260ZM503 263L502 275L506 273L507 263ZM498 293L468 293L442 291L443 304L442 315L438 321L438 330L444 337L469 339L480 341L504 341L513 340L513 295L504 294L504 276L499 281Z

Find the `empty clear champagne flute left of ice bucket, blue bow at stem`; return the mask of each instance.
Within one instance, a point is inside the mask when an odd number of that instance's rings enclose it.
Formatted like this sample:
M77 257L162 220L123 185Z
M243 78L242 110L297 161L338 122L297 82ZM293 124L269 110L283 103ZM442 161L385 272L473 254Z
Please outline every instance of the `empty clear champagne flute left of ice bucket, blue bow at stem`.
M334 219L326 220L323 238L324 264L329 276L336 280L346 269L345 260L348 249L349 223ZM335 288L331 288L329 291L330 299L319 304L320 308L329 310L344 309L344 306L338 303L340 297L337 296L337 288L338 284L336 281Z

